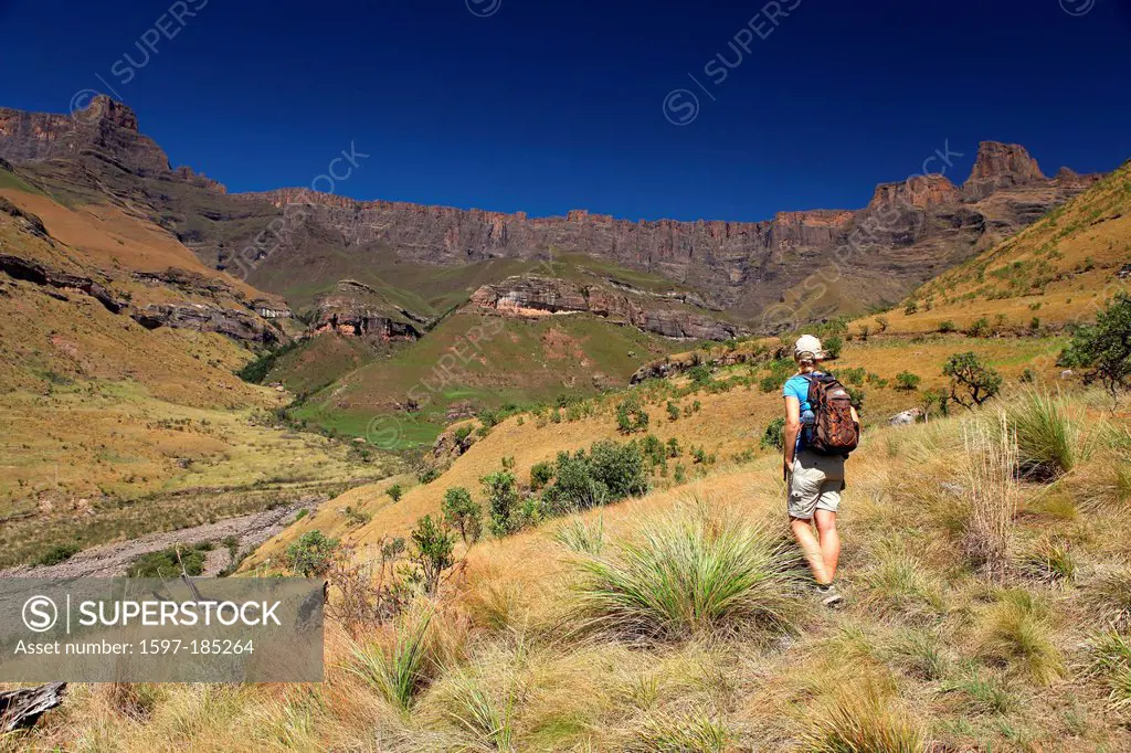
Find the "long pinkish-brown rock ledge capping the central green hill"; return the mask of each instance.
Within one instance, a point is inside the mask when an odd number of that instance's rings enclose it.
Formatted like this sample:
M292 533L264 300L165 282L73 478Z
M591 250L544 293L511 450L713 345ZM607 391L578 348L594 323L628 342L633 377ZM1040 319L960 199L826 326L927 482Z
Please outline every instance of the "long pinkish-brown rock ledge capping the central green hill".
M547 277L511 277L484 285L472 295L470 304L519 317L587 312L680 339L725 340L749 334L732 322L690 308L664 305L642 294Z

